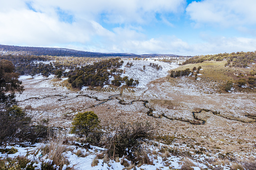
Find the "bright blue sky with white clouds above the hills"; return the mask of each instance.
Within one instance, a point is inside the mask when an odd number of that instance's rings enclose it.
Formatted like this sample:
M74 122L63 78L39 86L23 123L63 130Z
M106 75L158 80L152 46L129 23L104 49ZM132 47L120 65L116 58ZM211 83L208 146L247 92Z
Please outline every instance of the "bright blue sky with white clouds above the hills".
M0 0L0 44L184 56L256 50L255 0Z

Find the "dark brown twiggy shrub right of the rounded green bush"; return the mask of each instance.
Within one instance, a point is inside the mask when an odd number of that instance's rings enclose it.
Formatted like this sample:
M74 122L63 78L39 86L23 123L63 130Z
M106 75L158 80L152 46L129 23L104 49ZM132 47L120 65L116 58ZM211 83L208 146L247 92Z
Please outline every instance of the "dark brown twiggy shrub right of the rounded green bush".
M140 149L140 142L152 137L154 127L149 122L121 123L115 135L109 138L108 154L110 157L127 155L132 158L133 153Z

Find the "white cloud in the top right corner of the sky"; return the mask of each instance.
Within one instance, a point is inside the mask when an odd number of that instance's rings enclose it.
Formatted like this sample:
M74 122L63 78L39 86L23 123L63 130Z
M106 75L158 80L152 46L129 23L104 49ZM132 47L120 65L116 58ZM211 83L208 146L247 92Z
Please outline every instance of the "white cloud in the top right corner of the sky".
M186 9L191 20L215 27L240 27L256 24L254 0L205 0L192 2Z

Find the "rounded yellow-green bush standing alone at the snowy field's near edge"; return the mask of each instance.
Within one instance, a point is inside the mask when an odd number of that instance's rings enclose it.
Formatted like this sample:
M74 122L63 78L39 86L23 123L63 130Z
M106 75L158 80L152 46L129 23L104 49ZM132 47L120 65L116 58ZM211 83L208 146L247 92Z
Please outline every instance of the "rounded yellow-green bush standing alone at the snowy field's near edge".
M100 128L100 120L94 111L86 111L77 113L73 119L71 133L86 135L98 131Z

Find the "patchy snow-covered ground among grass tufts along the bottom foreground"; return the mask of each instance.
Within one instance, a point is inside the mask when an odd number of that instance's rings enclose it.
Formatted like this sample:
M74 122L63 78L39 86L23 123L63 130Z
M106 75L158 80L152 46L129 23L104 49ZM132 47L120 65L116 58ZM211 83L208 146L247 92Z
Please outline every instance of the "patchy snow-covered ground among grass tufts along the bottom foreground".
M76 142L78 143L78 142ZM144 149L147 149L148 152L148 158L152 161L152 164L139 164L137 166L134 165L135 169L145 169L145 170L155 170L155 169L181 169L183 164L186 163L186 161L190 161L191 167L193 167L195 170L199 169L205 169L209 165L212 165L211 163L207 162L207 159L210 157L207 155L203 155L200 158L199 161L194 161L193 159L183 159L180 156L174 156L171 155L168 152L161 153L160 148L164 147L164 144L158 143L160 147L155 147L153 145L148 145ZM41 148L45 147L46 144L44 143L36 143L34 145L30 145L27 147L21 147L20 145L14 145L14 146L5 146L0 147L0 149L17 149L16 153L8 154L8 153L2 153L0 152L0 158L15 158L17 156L27 156L28 159L33 162L33 166L35 169L41 169L41 166L43 163L47 162L55 167L55 169L62 169L65 170L67 167L74 168L77 170L83 170L83 169L102 169L102 170L120 170L127 168L124 165L122 165L122 160L126 160L129 164L131 162L127 160L124 156L119 159L109 159L108 161L104 159L97 159L98 163L96 165L93 165L92 162L95 158L97 158L97 155L104 153L106 150L105 148L97 147L97 146L91 146L90 149L85 149L82 147L77 147L74 145L66 145L68 151L65 151L62 153L64 158L66 158L69 161L69 164L64 164L62 167L58 167L54 165L51 159L49 159L47 154L43 155ZM173 145L172 147L176 147ZM180 147L186 148L186 145L180 145ZM77 152L80 152L80 154L76 154ZM153 154L152 154L152 153ZM151 154L150 154L151 153ZM29 164L29 163L28 163ZM219 165L222 169L231 169L230 165L223 164Z

